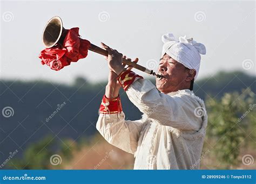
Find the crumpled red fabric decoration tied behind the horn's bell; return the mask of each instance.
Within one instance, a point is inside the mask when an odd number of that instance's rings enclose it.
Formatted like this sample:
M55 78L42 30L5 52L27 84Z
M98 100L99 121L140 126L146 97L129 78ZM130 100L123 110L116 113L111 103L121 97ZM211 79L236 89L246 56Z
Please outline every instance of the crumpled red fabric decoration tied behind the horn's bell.
M68 30L63 45L57 44L51 48L45 48L39 54L42 65L48 65L53 70L60 70L71 62L85 58L91 46L90 41L79 36L79 28Z

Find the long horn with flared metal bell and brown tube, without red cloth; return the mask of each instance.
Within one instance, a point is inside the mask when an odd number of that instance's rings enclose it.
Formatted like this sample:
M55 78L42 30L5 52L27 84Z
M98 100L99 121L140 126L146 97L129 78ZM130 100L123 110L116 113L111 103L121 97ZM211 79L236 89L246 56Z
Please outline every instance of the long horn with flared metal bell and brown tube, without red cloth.
M42 36L44 46L46 48L51 48L56 44L62 45L66 36L66 32L67 30L63 27L62 19L59 16L52 17L44 27ZM91 44L89 50L104 56L108 55L108 52L105 49L93 44ZM147 74L155 75L159 78L162 77L162 75L156 74L155 72L153 72L153 70L147 69L130 60L123 59L123 63L125 63L125 65L133 66L134 68L141 70L142 72L145 72Z

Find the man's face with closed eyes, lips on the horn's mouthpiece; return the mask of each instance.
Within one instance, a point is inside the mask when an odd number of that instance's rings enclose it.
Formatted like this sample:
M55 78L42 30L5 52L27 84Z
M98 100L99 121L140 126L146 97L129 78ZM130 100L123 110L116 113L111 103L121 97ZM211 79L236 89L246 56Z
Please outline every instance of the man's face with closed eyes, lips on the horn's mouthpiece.
M181 89L189 89L188 72L188 68L165 54L160 59L158 68L158 73L164 77L161 80L156 78L157 89L165 94Z

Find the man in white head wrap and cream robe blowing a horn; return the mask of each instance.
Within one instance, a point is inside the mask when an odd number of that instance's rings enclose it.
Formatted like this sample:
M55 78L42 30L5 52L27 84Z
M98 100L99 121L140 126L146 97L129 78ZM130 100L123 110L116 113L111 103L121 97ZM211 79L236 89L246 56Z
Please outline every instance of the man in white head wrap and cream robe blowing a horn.
M125 69L123 55L102 43L110 74L96 128L110 144L134 154L134 169L198 169L207 115L192 89L206 49L185 37L177 41L171 33L162 40L158 73L163 77L156 79L157 88ZM125 121L118 95L122 87L142 119Z

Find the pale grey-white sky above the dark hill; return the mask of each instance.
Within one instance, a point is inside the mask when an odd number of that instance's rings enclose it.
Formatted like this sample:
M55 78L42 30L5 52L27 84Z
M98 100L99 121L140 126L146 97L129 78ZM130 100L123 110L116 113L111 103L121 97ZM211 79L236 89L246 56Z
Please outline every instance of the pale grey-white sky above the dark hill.
M41 64L42 32L53 16L60 16L66 29L79 27L92 44L102 41L154 71L161 36L173 33L206 46L198 79L220 70L255 75L255 10L255 1L1 1L0 79L65 84L78 76L107 80L106 60L90 51L58 72Z

